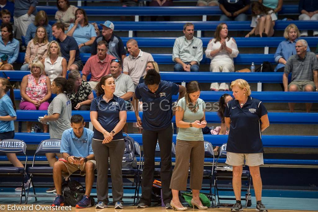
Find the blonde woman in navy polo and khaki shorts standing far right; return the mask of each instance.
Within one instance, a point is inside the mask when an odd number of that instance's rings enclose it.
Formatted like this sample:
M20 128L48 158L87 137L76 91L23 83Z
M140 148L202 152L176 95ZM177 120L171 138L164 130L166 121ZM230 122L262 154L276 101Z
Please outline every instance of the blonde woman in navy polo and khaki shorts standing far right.
M236 203L231 211L242 211L241 175L243 164L249 166L256 197L256 211L267 211L262 204L262 179L259 165L263 165L263 143L261 132L269 126L267 110L263 103L251 97L247 81L232 81L231 88L235 99L227 103L224 116L225 124L230 128L226 145L226 164L233 166L233 190Z

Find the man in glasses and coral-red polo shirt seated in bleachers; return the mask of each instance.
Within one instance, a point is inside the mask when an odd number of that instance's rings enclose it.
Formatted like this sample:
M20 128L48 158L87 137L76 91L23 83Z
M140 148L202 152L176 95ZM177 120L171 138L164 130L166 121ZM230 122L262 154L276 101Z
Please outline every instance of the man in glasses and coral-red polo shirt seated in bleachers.
M82 80L87 81L87 76L91 74L88 84L92 89L103 76L110 74L110 63L114 58L107 54L108 45L106 41L99 41L97 44L97 54L88 58L82 71Z

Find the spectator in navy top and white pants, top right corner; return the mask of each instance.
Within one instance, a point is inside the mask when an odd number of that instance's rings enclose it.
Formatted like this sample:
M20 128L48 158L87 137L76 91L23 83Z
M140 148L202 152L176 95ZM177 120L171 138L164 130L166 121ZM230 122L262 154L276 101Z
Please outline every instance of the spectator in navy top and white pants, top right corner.
M318 20L318 1L300 0L298 11L301 13L299 20L301 21L315 21ZM314 36L318 36L318 30L314 30ZM308 36L307 30L301 30L300 36Z

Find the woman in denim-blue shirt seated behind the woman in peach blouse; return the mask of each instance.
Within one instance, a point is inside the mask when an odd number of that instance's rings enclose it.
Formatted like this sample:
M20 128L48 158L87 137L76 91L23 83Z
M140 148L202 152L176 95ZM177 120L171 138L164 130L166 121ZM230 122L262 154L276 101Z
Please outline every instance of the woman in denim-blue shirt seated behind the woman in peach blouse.
M42 26L45 28L48 41L51 42L53 40L52 26L49 25L49 18L47 17L46 12L41 10L41 11L38 11L38 14L35 16L34 23L31 23L28 26L28 29L26 30L25 45L28 45L30 40L34 38L39 26Z

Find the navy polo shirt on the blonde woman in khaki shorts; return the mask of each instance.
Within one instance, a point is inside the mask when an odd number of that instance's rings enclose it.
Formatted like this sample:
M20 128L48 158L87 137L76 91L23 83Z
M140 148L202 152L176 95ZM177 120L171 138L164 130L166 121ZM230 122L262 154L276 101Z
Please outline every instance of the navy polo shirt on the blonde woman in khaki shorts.
M266 114L263 102L251 96L242 108L235 99L228 102L224 116L231 119L231 124L226 151L245 154L264 152L260 118Z

